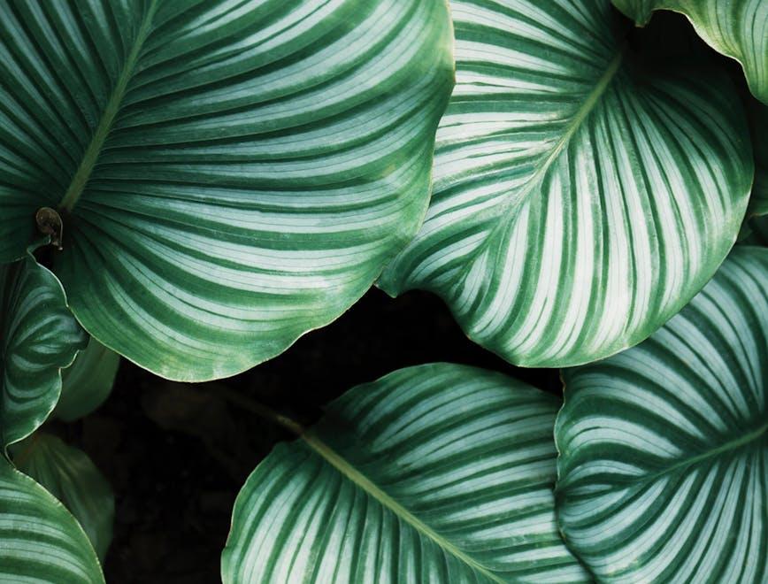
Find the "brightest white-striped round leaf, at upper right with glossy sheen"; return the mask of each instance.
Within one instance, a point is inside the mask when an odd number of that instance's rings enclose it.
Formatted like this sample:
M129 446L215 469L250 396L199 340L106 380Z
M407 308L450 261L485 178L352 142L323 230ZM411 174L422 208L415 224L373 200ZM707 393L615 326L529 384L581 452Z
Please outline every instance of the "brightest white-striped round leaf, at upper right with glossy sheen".
M626 45L609 0L451 3L457 87L434 195L390 294L442 296L520 365L577 365L651 334L717 270L753 175L726 75Z

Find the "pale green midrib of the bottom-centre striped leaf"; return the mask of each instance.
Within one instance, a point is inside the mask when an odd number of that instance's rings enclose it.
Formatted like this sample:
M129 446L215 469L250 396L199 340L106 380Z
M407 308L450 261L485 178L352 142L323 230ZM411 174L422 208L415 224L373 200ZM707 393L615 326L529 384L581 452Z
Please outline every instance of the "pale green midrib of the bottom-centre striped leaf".
M504 580L499 578L494 572L491 572L484 565L481 565L477 560L468 556L464 551L458 549L456 545L449 542L441 534L438 534L430 526L421 521L418 517L413 515L411 511L408 511L397 503L395 499L388 496L383 490L381 490L372 480L368 479L363 473L357 471L357 469L350 465L347 460L339 455L335 450L329 447L325 442L322 442L317 434L312 432L305 432L300 434L303 441L314 450L320 457L326 460L332 465L339 473L342 473L344 477L351 480L357 487L363 489L368 496L378 501L385 509L392 511L399 519L402 519L405 523L416 529L419 534L425 535L432 540L438 547L447 551L451 556L457 557L468 565L475 572L481 573L483 576L494 582L503 584Z

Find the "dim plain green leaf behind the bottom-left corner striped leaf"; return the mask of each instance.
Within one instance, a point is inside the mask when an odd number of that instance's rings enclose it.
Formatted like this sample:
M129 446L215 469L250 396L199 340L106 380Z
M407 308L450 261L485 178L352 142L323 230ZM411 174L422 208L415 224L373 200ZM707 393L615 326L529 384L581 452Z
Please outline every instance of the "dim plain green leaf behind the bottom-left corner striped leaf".
M14 449L13 463L65 504L104 561L112 539L115 496L88 455L57 436L37 432Z

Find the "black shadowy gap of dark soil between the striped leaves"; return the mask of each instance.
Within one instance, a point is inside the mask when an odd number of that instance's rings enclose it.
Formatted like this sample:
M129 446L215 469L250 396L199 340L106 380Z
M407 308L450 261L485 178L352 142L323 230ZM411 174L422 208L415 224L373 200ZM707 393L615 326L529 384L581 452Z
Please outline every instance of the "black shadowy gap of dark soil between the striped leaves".
M106 403L57 428L115 492L107 581L220 581L234 497L275 442L294 438L227 399L224 388L308 424L352 386L434 361L495 369L560 392L557 370L521 369L481 349L437 296L393 300L377 288L280 357L226 380L174 383L123 359Z

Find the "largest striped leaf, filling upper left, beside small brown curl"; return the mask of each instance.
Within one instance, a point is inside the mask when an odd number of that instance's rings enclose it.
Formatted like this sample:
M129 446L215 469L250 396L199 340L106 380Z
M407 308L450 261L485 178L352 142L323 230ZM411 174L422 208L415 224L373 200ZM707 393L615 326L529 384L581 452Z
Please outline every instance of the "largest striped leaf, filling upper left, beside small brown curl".
M0 10L0 261L57 209L75 316L150 371L279 354L419 228L453 83L445 3Z

